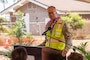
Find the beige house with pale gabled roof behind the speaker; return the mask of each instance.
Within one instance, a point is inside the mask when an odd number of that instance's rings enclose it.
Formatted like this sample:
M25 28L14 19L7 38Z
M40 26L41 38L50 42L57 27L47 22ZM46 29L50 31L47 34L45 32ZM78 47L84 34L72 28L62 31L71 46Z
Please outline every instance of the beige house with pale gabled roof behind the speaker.
M46 22L49 20L47 8L51 5L57 8L60 15L65 15L70 10L71 13L79 13L84 19L90 20L90 4L76 0L20 0L1 11L0 14L8 14L10 21L15 22L17 20L16 12L21 10L24 13L27 32L41 35L45 31Z

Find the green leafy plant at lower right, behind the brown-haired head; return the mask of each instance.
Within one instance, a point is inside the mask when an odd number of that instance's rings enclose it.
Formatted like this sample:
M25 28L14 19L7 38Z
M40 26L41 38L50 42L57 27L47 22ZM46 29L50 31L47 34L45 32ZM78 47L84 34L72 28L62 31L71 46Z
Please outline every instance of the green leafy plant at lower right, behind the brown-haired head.
M86 46L87 46L87 42L81 43L80 46L78 46L78 47L74 46L74 49L81 52L87 60L90 60L90 52L85 50Z

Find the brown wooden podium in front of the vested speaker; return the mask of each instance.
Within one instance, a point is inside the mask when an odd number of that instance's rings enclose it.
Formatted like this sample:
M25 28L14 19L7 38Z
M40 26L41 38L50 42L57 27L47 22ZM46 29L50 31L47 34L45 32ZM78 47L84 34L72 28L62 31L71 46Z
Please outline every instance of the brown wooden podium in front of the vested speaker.
M15 45L14 48L20 45ZM54 60L60 51L44 46L23 46L26 48L28 55L35 57L35 60ZM56 54L56 55L55 55ZM62 57L62 56L61 56Z

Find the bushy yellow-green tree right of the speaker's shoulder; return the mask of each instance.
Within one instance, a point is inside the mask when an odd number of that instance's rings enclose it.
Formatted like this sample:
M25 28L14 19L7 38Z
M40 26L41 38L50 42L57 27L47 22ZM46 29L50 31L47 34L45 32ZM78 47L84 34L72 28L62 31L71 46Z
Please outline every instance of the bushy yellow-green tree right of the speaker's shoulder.
M79 36L77 33L77 29L82 29L85 24L85 20L83 20L82 16L76 13L70 14L69 12L67 16L62 16L61 18L65 22L67 22L67 25L69 26L69 29L72 33L72 38L77 39L77 37Z

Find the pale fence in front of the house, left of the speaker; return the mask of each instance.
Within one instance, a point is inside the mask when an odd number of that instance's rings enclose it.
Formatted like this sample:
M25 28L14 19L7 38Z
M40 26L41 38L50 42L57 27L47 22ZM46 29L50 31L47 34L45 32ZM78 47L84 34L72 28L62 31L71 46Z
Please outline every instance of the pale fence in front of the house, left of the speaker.
M0 24L10 27L11 25L14 25L15 22L2 22ZM42 35L45 31L45 22L30 22L28 29L33 35Z

